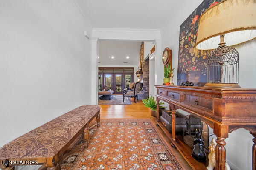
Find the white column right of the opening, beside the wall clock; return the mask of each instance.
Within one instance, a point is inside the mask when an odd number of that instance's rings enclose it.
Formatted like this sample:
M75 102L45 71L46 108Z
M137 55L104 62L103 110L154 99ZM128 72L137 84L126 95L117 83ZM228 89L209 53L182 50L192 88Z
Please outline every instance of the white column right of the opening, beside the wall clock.
M155 85L163 84L162 39L155 39ZM156 88L155 93L156 94Z

